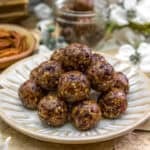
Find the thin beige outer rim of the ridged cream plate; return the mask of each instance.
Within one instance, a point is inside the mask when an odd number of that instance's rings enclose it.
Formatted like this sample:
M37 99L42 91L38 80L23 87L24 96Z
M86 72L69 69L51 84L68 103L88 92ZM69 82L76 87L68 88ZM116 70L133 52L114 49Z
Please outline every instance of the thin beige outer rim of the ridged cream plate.
M52 51L49 51L48 53L46 52L45 54L50 55L51 53L52 53ZM100 52L96 52L96 53L100 53ZM15 68L20 63L31 60L31 59L33 59L34 57L37 57L40 54L41 53L30 56L30 57L25 58L25 59L22 59L21 61L18 61L17 63L15 63L12 66L8 67L6 70L4 70L1 73L0 80L2 80L2 78L4 78L5 74L7 74L10 70ZM45 55L45 54L43 53L43 55ZM117 58L115 58L111 55L104 54L104 53L100 53L100 54L103 54L104 56L108 56L108 57L111 57L111 58L114 58L114 59L118 60ZM120 62L123 63L123 61L120 61ZM132 67L132 66L130 65L130 67ZM137 73L142 75L145 78L145 80L147 80L147 82L150 83L150 80L148 79L148 77L144 73L142 73L139 70L137 71ZM150 86L148 86L147 88L150 90ZM81 139L78 139L78 138L61 137L61 136L54 136L54 135L47 136L47 135L44 135L44 134L34 132L32 130L29 130L29 129L26 129L26 128L22 127L21 125L16 125L16 122L13 119L11 119L7 115L5 115L5 113L2 112L2 110L0 110L0 118L4 122L6 122L8 125L10 125L12 128L14 128L15 130L17 130L17 131L19 131L19 132L21 132L21 133L23 133L27 136L30 136L32 138L41 140L41 141L54 142L54 143L63 143L63 144L87 144L87 143L96 143L96 142L102 142L102 141L107 141L107 140L110 140L110 139L114 139L114 138L120 137L120 136L125 135L128 132L134 130L138 125L144 123L144 121L146 121L149 117L150 117L150 112L146 111L144 113L143 117L141 119L139 119L136 123L134 123L133 125L128 126L126 128L123 128L123 129L119 130L118 132L111 132L110 134L103 135L103 137L97 135L97 136L93 136L93 137L84 137L84 138L82 137Z

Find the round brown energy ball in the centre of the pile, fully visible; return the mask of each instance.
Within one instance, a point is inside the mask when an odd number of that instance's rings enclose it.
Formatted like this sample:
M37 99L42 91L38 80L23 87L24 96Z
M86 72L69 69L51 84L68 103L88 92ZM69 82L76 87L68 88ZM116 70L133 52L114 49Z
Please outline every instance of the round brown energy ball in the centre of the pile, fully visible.
M67 102L76 102L88 98L90 84L86 76L79 71L64 73L58 83L58 95Z

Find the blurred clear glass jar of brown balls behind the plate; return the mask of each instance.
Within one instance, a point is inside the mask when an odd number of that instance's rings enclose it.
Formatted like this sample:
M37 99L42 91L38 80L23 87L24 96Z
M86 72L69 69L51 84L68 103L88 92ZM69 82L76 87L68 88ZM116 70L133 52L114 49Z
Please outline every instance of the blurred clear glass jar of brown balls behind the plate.
M57 0L54 6L55 21L66 42L80 42L95 47L104 37L105 0Z

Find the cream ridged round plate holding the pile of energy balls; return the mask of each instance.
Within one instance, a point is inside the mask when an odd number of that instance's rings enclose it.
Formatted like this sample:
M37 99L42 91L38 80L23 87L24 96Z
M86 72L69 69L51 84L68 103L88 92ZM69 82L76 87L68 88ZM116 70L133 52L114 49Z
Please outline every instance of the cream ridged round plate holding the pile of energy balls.
M130 83L128 109L115 120L102 119L90 131L77 131L71 124L52 128L39 120L36 111L23 107L18 98L20 84L28 79L31 69L49 58L50 53L40 53L9 67L0 75L0 117L16 130L33 138L57 143L93 143L109 140L135 129L148 119L150 112L149 80L126 63L106 56L117 71L124 72Z

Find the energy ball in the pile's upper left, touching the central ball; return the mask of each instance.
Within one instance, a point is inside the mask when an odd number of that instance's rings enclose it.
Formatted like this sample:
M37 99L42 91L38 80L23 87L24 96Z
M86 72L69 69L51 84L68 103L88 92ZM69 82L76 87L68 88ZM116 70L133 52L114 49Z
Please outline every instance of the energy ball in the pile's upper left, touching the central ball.
M55 90L62 73L63 69L59 62L46 61L31 72L30 78L45 90Z

